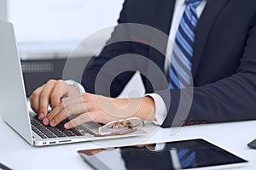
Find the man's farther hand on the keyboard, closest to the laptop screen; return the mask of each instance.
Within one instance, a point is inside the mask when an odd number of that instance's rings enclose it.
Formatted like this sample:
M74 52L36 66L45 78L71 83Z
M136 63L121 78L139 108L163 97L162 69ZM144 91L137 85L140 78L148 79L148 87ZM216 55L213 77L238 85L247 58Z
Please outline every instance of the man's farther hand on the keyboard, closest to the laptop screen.
M62 98L78 94L77 88L62 80L49 80L30 96L31 108L38 113L38 119L43 120L47 116L49 105L55 109L61 103Z

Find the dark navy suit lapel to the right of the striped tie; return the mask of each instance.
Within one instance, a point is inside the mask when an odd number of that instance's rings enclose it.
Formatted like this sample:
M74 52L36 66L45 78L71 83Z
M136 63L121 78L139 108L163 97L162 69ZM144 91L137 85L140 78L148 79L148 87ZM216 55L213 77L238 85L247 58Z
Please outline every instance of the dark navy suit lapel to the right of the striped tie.
M229 0L207 0L207 5L195 29L195 48L192 61L192 75L194 79L212 24L220 10L224 8L224 5L227 4L228 1Z

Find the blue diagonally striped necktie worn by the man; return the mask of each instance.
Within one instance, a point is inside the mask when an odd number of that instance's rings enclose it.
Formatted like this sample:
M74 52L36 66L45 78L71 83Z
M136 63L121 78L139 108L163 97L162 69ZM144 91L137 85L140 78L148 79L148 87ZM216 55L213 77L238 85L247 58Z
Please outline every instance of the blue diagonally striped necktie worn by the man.
M195 42L197 14L195 8L202 0L186 0L186 8L177 30L169 71L169 88L192 86L191 65Z

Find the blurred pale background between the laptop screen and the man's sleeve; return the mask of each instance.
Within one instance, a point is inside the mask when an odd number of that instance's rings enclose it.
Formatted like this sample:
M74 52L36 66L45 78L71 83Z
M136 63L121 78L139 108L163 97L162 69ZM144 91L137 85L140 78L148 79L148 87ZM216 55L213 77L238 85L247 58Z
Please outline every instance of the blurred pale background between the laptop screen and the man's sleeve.
M0 0L0 20L12 22L26 95L50 78L60 79L67 56L96 31L115 26L124 0ZM110 31L85 41L69 60L75 68L101 48ZM3 57L3 56L0 56ZM69 78L69 77L67 77ZM81 77L70 78L80 81Z

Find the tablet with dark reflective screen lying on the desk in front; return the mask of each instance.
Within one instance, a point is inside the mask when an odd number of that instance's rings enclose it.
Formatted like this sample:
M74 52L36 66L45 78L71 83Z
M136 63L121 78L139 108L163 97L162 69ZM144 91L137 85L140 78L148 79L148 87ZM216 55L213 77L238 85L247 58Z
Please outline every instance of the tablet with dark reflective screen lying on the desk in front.
M247 161L204 139L143 144L113 149L78 150L93 169L215 169Z

